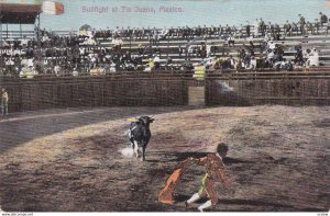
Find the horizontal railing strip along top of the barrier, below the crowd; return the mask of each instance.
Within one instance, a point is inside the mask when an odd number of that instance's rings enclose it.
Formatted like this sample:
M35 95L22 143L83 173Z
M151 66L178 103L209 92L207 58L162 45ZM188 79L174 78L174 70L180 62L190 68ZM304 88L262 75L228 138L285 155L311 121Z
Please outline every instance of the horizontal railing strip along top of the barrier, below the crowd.
M91 73L78 73L78 76L73 76L72 73L59 73L59 75L34 75L30 78L20 78L18 76L0 76L1 80L54 80L54 79L195 79L194 70L154 70L154 71L119 71L119 72L109 72L100 75ZM277 79L277 78L329 78L330 77L330 67L315 67L309 70L300 69L295 71L278 71L273 69L258 69L258 70L206 70L205 79Z

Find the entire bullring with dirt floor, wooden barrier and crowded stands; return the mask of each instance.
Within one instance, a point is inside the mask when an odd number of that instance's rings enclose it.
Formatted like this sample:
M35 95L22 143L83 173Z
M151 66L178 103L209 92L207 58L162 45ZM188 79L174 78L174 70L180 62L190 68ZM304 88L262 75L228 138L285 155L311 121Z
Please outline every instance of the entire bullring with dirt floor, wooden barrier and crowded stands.
M44 32L46 39L36 42L44 54L35 50L33 33L1 32L0 87L9 93L9 115L0 116L0 209L195 212L204 200L189 209L184 202L198 191L202 167L183 175L174 205L160 203L158 194L182 161L226 143L230 189L217 184L220 201L210 212L328 212L328 25L263 27L253 36L221 27L176 29L165 37L152 30L152 36ZM274 50L264 43L268 30ZM15 34L32 45L15 44L8 36ZM9 54L4 42L20 54ZM15 71L16 59L26 60L26 70ZM41 67L40 59L47 64ZM127 154L129 118L142 115L155 118L145 161Z

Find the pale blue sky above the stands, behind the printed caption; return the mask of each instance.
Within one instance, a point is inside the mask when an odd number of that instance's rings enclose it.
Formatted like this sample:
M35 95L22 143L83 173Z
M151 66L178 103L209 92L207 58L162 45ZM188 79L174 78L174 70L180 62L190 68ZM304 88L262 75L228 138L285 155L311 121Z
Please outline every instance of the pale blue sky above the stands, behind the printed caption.
M35 0L2 0L2 2L33 3ZM96 29L116 26L197 26L245 24L256 18L283 23L297 21L301 13L309 21L319 12L330 16L327 0L57 0L65 7L65 14L42 15L42 27L47 30L78 30L82 24ZM84 8L85 7L85 8ZM96 11L105 10L103 13ZM123 10L127 7L127 10ZM114 9L113 9L114 8ZM117 10L116 10L117 8ZM164 8L180 11L164 12ZM112 11L112 9L114 11ZM131 9L129 11L128 9ZM136 10L146 10L138 12ZM89 11L89 12L87 12ZM95 12L94 12L95 11ZM29 26L24 26L29 29Z

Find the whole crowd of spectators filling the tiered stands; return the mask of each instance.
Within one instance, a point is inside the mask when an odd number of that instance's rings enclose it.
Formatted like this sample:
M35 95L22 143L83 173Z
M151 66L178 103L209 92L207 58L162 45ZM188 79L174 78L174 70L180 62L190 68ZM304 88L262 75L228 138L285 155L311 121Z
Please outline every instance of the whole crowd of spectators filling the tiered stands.
M292 70L295 66L312 66L319 64L318 50L295 47L294 59L284 58L284 47L278 41L288 36L328 34L330 22L327 15L319 13L319 19L312 22L298 15L297 22L286 21L283 25L266 23L256 19L254 24L240 26L180 26L139 29L128 27L96 31L86 29L85 33L65 36L52 32L37 31L36 38L3 39L0 43L0 73L16 77L29 75L74 75L107 73L121 70L153 70L153 69L191 69L191 58L200 58L200 64L207 68L213 66L223 69L255 69L276 68ZM219 58L219 46L208 43L210 38L218 38L224 45L238 49L233 57L222 50ZM239 45L235 41L248 38L248 45ZM254 38L263 38L260 46L254 45ZM160 48L160 42L183 41L175 50L167 53ZM108 41L105 45L101 42ZM139 44L147 41L147 45ZM130 43L130 48L122 46ZM198 42L198 43L197 43ZM131 44L139 44L138 47ZM256 54L257 53L257 54ZM174 64L173 56L183 58ZM162 61L161 57L166 56ZM162 64L164 62L164 64Z

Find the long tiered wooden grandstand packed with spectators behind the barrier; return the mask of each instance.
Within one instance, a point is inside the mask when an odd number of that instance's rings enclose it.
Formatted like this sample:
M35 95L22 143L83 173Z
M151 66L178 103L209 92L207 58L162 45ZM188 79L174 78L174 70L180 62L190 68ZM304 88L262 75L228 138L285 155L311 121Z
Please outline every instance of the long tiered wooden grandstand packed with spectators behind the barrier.
M322 20L307 22L302 29L298 22L279 25L258 19L254 25L240 26L94 30L85 25L81 26L85 35L81 31L78 34L42 31L41 73L96 76L119 71L185 71L198 66L223 71L308 69L330 61L328 25L322 15ZM9 56L21 57L26 53L29 56L34 47L32 43L28 52ZM11 58L7 59L9 65L16 61Z

